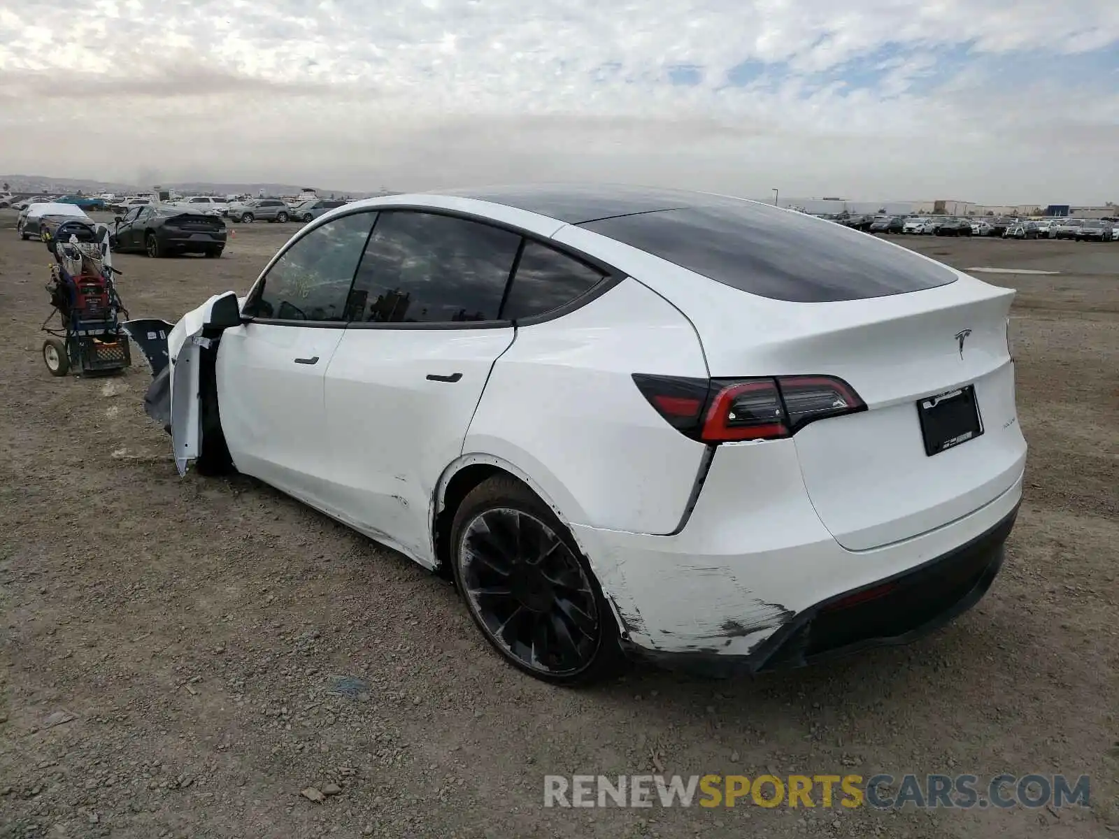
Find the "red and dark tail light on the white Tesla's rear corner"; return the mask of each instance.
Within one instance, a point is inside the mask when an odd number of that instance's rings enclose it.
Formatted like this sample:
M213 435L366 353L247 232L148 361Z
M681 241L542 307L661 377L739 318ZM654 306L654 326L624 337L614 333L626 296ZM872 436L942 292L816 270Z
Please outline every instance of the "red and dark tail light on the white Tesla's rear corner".
M855 389L836 376L699 379L633 374L657 413L703 443L791 437L809 423L866 411Z

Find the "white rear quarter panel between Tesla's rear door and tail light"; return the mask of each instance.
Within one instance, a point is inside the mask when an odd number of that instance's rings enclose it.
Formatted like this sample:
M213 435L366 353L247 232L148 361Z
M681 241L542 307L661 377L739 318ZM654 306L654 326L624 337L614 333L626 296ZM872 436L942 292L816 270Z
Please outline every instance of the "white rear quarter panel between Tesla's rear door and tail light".
M511 463L572 524L671 532L705 446L657 414L634 373L706 377L707 369L690 322L627 279L570 314L517 330L463 455Z

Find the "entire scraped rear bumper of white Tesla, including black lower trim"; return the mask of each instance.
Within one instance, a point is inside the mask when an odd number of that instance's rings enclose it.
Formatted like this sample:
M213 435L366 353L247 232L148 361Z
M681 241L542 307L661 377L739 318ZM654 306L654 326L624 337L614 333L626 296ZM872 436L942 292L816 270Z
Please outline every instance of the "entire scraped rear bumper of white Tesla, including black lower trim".
M716 452L704 491L676 535L574 524L571 529L632 656L689 669L711 670L715 662L720 669L756 671L899 643L968 609L998 571L996 549L1021 498L1019 470L1007 489L949 524L848 550L812 507L793 442L770 441ZM974 575L966 575L965 588L938 594L932 614L908 606L903 611L920 618L912 625L884 619L871 625L869 618L848 612L844 623L864 628L852 637L833 625L837 612L826 606L884 581L909 581L922 568L943 576L956 568L953 557L965 557L965 571ZM918 578L928 587L924 573ZM908 584L900 587L912 591ZM897 602L875 601L878 606ZM797 652L794 639L808 645Z

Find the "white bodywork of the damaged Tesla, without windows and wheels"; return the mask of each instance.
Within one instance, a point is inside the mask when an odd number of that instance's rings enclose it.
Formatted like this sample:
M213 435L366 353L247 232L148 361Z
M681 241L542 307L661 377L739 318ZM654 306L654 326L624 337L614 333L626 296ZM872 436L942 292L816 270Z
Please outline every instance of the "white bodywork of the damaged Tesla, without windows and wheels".
M158 374L149 413L168 426L180 474L215 428L204 399L214 397L237 469L435 568L448 486L463 469L500 470L570 529L627 649L662 661L806 663L908 640L986 591L1025 460L1010 292L958 274L873 299L761 298L577 223L438 196L349 205L292 243L347 213L417 204L488 215L614 273L560 315L469 330L349 315L318 328L217 323L233 293L215 295L167 331L162 365L158 340L144 350ZM838 377L865 404L790 423L788 436L732 442L744 439L674 426L634 374L704 388ZM932 458L919 400L965 386L987 426ZM695 416L708 409L700 400ZM871 602L881 614L861 611ZM914 621L891 623L906 609ZM857 641L844 632L848 618L862 622Z

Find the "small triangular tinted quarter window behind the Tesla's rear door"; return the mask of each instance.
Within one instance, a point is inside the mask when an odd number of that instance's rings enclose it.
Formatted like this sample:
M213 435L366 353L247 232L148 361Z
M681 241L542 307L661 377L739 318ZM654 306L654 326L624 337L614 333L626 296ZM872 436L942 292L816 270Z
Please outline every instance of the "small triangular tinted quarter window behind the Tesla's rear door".
M593 289L603 276L598 268L566 254L538 242L526 242L501 318L516 320L551 312Z

